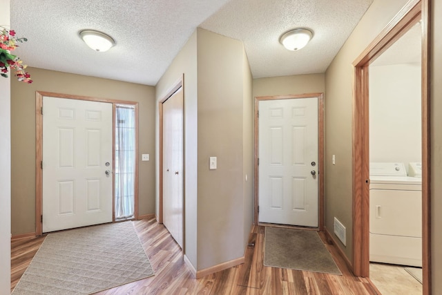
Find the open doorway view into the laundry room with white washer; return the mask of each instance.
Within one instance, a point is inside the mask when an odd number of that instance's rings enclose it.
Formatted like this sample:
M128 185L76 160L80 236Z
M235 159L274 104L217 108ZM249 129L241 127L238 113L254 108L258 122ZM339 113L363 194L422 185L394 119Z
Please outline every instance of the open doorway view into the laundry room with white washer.
M421 31L369 65L369 277L382 293L422 294Z

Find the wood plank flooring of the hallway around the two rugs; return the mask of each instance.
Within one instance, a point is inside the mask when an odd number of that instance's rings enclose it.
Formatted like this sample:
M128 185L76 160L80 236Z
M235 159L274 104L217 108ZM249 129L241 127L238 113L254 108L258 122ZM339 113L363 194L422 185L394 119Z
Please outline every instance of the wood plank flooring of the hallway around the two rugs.
M245 263L195 279L183 261L180 248L169 231L154 218L134 221L144 250L151 260L155 276L97 294L376 294L365 278L352 275L336 249L332 252L343 276L265 267L265 227L253 226ZM320 233L325 240L325 235ZM13 240L11 246L11 291L17 285L44 237Z

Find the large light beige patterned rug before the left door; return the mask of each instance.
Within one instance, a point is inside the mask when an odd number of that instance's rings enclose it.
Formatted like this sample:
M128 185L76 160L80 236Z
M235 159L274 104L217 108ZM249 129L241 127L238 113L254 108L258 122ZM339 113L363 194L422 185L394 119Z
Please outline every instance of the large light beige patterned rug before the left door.
M12 294L91 294L153 276L131 221L46 236Z

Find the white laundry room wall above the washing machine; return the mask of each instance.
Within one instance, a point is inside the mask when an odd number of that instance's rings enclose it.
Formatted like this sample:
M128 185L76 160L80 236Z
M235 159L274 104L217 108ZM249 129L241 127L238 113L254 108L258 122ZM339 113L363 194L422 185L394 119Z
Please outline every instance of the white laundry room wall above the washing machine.
M421 65L369 68L370 162L421 162Z

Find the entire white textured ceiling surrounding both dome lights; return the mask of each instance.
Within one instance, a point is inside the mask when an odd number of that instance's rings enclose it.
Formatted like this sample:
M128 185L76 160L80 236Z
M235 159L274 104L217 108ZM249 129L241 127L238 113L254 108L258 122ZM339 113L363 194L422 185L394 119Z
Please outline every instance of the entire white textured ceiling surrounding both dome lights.
M28 42L15 53L29 66L156 85L200 26L244 42L253 77L324 73L373 0L12 0L11 28ZM314 30L302 50L278 39ZM111 35L106 53L79 30ZM32 75L32 73L31 73Z

